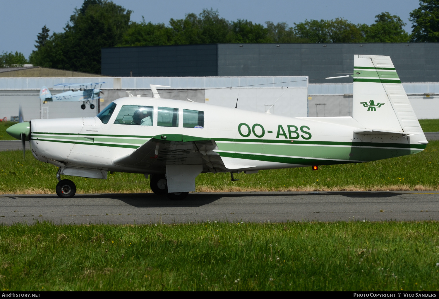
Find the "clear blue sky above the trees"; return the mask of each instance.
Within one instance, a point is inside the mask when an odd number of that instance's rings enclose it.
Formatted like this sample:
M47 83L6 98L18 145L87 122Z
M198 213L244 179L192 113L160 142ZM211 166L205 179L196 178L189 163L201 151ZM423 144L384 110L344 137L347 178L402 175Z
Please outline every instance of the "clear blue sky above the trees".
M375 15L389 11L399 15L407 23L410 12L419 7L418 0L114 0L116 4L130 9L132 21L140 22L142 15L147 22L164 22L170 18L184 18L190 12L200 13L203 8L218 9L219 15L227 20L237 18L252 22L265 21L294 22L305 19L333 19L342 17L353 23L372 24ZM44 25L50 33L62 32L75 7L81 7L83 0L14 0L0 1L0 52L20 51L27 57L35 49L36 35Z

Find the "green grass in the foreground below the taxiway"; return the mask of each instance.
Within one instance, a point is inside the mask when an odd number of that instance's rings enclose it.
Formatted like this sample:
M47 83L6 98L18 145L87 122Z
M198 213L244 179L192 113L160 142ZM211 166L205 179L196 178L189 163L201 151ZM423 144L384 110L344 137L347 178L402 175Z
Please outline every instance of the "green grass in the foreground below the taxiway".
M8 291L439 291L439 223L15 224Z

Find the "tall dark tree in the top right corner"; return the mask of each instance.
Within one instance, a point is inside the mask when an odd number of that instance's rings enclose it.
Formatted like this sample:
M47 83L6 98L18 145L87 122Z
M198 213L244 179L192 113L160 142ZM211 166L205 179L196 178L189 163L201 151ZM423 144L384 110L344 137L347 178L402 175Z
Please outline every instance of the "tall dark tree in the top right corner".
M439 41L439 0L419 0L419 8L410 12L413 22L411 41Z

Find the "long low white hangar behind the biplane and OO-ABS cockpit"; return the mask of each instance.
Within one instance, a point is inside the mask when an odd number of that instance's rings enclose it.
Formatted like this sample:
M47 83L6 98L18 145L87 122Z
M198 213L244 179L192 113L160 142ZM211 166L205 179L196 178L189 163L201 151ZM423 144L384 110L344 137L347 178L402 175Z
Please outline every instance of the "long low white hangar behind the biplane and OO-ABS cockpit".
M21 104L25 120L37 118L91 117L96 108L80 108L82 102L43 102L39 98L42 86L50 89L52 95L62 92L53 88L58 83L101 82L104 92L100 109L104 109L117 98L127 96L131 90L134 96L151 97L150 84L166 85L158 88L162 98L205 102L210 105L234 107L239 93L238 107L251 111L265 112L277 98L285 93L270 110L277 115L305 117L307 115L307 76L278 77L60 77L60 78L0 78L0 117L18 115ZM206 98L208 100L206 100Z

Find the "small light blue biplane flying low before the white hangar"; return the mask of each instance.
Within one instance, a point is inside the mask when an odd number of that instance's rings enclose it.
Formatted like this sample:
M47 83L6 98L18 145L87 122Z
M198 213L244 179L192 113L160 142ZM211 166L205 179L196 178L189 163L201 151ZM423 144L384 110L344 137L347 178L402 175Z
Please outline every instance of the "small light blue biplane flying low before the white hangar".
M93 101L99 100L101 86L105 82L88 82L88 83L60 83L54 86L62 86L62 92L58 95L52 95L49 88L43 86L40 90L40 99L46 102L83 102L82 109L86 108L86 104L94 109ZM99 85L99 88L97 86Z

